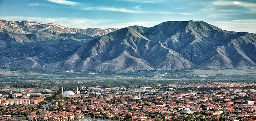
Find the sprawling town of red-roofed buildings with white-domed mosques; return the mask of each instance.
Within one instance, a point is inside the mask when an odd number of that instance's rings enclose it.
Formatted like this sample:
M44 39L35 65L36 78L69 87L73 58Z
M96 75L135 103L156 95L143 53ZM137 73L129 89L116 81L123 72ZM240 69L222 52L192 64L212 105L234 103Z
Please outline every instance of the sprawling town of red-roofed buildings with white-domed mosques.
M252 83L0 90L0 120L255 121Z

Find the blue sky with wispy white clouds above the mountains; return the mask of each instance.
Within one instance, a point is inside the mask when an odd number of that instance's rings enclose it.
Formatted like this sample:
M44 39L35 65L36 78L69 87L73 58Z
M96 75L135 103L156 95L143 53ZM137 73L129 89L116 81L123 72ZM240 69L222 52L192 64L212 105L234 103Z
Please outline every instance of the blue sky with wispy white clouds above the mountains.
M256 0L0 0L0 11L0 19L70 28L153 27L193 20L256 32Z

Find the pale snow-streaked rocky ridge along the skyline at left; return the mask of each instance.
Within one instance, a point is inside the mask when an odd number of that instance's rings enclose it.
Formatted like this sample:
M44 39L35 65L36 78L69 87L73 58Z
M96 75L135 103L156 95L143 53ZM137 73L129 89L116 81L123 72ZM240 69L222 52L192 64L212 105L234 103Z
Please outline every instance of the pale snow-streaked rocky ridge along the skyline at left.
M76 34L81 33L88 36L102 36L110 32L116 31L120 28L109 28L109 29L100 29L100 28L88 28L88 29L76 29L60 26L57 24L50 23L40 23L40 22L31 22L31 21L9 21L9 20L0 20L0 32L11 32L17 34L44 34L48 35L53 34Z

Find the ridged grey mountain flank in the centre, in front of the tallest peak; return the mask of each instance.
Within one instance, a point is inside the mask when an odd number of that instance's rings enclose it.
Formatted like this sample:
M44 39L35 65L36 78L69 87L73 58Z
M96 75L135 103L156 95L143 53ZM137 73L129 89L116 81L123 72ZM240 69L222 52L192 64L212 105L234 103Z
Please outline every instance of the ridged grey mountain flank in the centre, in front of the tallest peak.
M161 42L148 40L136 31L141 28L139 26L127 27L92 40L80 47L83 50L82 52L75 52L74 55L61 61L61 64L58 62L57 65L63 65L62 63L66 65L70 62L71 58L76 58L79 59L77 63L79 65L78 68L73 66L73 68L68 70L89 69L126 72L145 69L185 69L192 67L193 63L182 58L177 52L164 47ZM78 55L77 53L82 54L75 56Z

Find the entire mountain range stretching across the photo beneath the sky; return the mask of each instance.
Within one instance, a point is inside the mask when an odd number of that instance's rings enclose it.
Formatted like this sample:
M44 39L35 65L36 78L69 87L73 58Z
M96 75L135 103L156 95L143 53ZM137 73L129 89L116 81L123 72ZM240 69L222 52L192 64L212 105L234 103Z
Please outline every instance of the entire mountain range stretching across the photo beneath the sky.
M75 29L0 20L0 67L96 70L251 69L256 35L206 22Z

